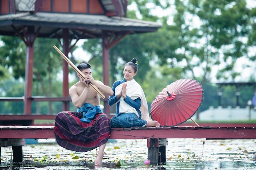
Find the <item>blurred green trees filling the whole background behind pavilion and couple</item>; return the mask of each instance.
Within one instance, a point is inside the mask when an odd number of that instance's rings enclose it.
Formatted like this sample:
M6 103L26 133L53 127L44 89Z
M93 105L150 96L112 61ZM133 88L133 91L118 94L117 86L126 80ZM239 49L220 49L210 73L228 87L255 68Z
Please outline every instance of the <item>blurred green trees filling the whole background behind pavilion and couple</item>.
M256 61L256 8L249 8L246 0L133 0L128 1L128 5L128 18L159 22L162 23L162 28L154 33L127 35L110 49L110 86L123 78L125 63L136 57L139 70L135 79L144 89L149 103L166 85L180 78L194 78L204 87L204 100L200 108L202 111L211 105L218 106L218 90L211 84L213 79L234 81L240 76L240 72L236 70L238 59L244 57L252 62ZM171 14L164 15L170 11ZM3 42L3 46L0 46L1 95L23 96L26 46L19 37L0 38ZM59 77L62 58L52 48L57 44L56 39L38 38L35 41L35 96L62 95L62 78ZM91 54L89 62L94 78L103 81L102 40L86 40L82 48ZM78 63L72 54L71 60L74 64ZM249 65L243 67L247 68ZM74 70L70 69L70 72L75 75ZM9 76L23 81L10 84L10 79L7 80ZM76 81L77 79L74 80ZM255 81L254 75L248 81ZM239 102L244 106L254 90L243 90L241 89L241 94L245 95L241 95ZM233 87L226 87L225 92L227 94L223 93L222 96L223 105L234 106L236 96ZM22 106L18 111L17 107L15 110L13 105L5 102L0 105L4 105L1 107L6 109L4 113L10 109L13 113L22 112ZM52 103L51 106L47 102L33 103L32 109L45 113L48 107L52 107L55 113L60 110L61 104ZM72 105L71 108L76 109Z

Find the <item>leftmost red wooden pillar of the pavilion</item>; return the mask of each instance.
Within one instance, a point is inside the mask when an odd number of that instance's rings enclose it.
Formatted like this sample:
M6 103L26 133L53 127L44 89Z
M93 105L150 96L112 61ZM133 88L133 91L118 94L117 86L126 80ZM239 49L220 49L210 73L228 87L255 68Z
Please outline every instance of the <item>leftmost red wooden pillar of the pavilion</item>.
M24 114L31 114L31 97L33 83L33 58L34 58L34 26L27 27L27 56L25 72L25 94L24 94Z

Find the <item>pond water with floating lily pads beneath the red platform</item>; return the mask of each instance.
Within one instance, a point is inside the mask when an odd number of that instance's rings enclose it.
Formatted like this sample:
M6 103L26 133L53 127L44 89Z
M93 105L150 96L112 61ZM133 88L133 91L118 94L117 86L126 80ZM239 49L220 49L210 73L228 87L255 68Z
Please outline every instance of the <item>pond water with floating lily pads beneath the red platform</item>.
M77 153L55 142L23 146L24 161L12 163L12 148L1 149L0 170L92 170L97 150ZM168 139L166 165L146 166L147 140L109 140L98 170L256 169L256 140ZM126 166L118 166L125 161ZM123 165L123 164L122 164Z

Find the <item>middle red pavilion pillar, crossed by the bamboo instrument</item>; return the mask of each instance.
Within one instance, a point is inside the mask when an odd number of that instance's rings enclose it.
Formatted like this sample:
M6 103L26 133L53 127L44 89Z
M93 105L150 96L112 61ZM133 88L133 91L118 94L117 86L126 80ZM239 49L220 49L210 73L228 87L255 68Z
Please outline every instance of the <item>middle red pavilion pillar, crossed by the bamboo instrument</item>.
M68 57L69 53L69 32L67 28L63 28L63 54ZM63 59L63 97L68 97L69 82L68 82L68 63ZM63 111L69 111L69 102L63 101Z

